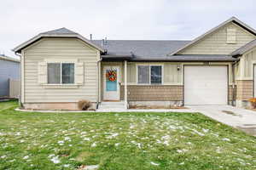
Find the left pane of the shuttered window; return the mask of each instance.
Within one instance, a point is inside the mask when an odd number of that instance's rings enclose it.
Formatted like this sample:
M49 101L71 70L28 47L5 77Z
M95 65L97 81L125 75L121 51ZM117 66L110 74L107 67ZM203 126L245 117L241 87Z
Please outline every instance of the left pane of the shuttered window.
M61 64L48 63L47 77L48 77L49 84L60 84L61 83Z

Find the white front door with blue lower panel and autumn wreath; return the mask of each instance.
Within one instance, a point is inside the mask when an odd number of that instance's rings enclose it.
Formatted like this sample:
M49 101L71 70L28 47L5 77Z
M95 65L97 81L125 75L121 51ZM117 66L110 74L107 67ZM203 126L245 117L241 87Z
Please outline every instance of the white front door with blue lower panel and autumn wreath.
M104 100L119 100L119 66L103 67Z

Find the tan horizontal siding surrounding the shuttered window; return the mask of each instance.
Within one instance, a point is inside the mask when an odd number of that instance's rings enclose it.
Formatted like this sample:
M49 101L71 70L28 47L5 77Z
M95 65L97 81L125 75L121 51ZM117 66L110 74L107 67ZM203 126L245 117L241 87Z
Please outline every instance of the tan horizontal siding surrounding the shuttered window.
M97 50L75 38L43 38L25 49L25 103L97 100ZM45 88L38 84L38 62L78 59L84 63L84 84L79 88Z

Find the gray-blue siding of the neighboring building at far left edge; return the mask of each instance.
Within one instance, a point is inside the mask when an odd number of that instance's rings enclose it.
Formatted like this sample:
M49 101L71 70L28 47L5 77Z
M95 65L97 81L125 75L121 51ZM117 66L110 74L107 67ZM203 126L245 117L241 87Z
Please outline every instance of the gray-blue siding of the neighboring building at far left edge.
M0 96L9 96L9 78L20 80L20 63L0 59Z

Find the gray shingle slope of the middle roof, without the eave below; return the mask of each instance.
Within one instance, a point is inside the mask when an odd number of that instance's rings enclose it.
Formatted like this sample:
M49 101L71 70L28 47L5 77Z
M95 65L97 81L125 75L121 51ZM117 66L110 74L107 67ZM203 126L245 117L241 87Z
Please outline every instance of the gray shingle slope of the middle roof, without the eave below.
M102 40L93 40L98 46L108 50L109 55L139 57L166 57L170 51L183 47L189 41L158 41L158 40L108 40L102 46Z

